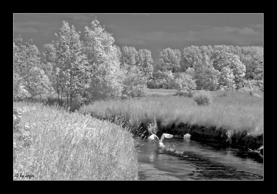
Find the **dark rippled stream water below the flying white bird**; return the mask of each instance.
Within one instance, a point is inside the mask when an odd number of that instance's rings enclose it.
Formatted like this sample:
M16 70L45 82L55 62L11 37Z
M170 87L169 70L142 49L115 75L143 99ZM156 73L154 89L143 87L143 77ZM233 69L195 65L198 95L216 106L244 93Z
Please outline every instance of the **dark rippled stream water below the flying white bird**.
M263 156L258 153L190 139L164 139L163 143L171 151L158 148L153 140L141 142L140 180L264 179Z

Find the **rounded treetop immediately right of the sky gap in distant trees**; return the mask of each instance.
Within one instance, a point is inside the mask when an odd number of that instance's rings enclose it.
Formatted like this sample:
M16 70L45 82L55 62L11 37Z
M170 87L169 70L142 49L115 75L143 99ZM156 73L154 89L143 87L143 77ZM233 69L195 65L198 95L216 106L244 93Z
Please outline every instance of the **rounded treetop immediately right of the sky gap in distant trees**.
M181 53L178 49L167 48L160 52L160 61L165 70L177 73L180 68Z

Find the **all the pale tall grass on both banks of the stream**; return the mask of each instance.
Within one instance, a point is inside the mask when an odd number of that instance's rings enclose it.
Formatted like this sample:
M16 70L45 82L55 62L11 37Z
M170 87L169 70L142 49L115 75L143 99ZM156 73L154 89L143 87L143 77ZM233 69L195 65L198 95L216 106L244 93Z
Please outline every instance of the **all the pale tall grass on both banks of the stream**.
M212 91L212 103L198 106L176 92L149 89L145 97L95 101L71 112L49 106L54 97L14 102L14 174L32 173L32 180L137 180L131 132L144 132L154 122L168 129L187 124L263 135L263 93Z

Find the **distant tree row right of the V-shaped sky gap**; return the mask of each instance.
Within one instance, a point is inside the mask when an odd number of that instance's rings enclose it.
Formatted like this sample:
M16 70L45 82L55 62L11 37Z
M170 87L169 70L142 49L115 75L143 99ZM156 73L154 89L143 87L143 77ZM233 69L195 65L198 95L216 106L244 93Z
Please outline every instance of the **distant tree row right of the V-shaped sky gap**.
M263 91L261 46L189 46L182 53L167 48L160 53L160 61L149 88Z

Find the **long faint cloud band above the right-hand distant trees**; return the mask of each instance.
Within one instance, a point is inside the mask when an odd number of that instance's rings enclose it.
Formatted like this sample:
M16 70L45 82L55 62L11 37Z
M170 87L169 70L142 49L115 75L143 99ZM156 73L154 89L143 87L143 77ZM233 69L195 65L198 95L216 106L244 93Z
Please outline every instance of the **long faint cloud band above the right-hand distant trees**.
M124 37L123 37L124 36ZM231 26L205 26L204 30L189 30L179 32L152 31L152 32L133 32L131 34L121 34L117 42L122 44L152 44L154 42L170 43L175 45L199 44L200 41L206 44L236 44L241 46L250 46L253 42L262 43L262 31L254 30L251 27L231 27ZM209 43L210 42L210 43Z

